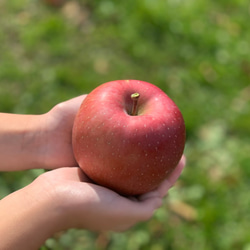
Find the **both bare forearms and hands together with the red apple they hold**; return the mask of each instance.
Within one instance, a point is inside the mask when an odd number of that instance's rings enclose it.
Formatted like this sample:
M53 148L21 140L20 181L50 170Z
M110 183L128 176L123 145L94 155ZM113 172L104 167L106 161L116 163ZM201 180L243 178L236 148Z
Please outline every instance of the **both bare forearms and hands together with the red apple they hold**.
M185 166L179 109L141 81L0 120L0 170L52 169L0 201L2 249L36 249L68 228L128 229L153 215Z

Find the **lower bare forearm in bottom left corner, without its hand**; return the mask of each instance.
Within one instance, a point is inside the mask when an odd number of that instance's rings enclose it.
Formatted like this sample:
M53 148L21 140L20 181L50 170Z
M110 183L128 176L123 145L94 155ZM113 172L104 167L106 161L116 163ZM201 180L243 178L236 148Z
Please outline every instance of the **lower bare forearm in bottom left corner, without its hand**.
M0 249L39 249L58 231L59 213L42 191L27 186L0 201Z

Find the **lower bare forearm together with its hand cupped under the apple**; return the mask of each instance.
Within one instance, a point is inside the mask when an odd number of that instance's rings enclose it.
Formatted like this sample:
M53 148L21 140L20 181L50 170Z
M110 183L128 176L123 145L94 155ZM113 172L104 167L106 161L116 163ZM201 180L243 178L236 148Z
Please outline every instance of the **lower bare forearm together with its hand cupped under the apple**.
M54 233L69 228L124 231L148 220L180 176L177 168L154 191L135 197L95 185L78 167L40 175L30 185L0 202L0 249L38 249Z

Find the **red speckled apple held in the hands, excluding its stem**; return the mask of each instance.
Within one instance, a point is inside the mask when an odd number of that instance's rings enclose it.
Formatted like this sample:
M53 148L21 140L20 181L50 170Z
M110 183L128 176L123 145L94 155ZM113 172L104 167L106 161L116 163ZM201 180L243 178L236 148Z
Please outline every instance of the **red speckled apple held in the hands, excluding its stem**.
M131 94L136 92L138 114L132 116ZM185 136L180 110L161 89L117 80L98 86L84 99L72 144L80 168L96 184L139 195L157 188L177 166Z

